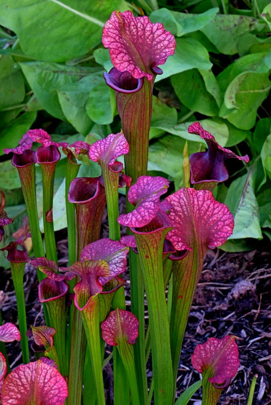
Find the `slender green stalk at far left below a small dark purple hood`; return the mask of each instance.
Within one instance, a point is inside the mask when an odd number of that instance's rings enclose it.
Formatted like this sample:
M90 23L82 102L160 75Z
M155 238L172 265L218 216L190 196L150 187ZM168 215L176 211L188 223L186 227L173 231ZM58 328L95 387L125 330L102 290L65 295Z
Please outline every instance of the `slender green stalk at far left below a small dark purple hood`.
M26 311L23 292L23 272L25 263L11 262L10 265L11 265L11 276L14 284L14 290L17 301L19 330L21 334L22 360L23 363L26 364L29 363L29 348L28 348L28 339L26 336L27 325L26 325Z

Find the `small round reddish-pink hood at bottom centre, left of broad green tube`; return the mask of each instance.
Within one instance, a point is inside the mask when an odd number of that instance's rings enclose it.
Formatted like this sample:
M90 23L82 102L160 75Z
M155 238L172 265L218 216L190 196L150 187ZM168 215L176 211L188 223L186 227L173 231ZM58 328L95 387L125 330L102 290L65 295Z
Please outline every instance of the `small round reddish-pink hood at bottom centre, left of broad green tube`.
M102 337L111 346L116 346L122 339L130 344L135 344L138 325L137 317L132 312L117 308L111 311L106 320L102 322Z

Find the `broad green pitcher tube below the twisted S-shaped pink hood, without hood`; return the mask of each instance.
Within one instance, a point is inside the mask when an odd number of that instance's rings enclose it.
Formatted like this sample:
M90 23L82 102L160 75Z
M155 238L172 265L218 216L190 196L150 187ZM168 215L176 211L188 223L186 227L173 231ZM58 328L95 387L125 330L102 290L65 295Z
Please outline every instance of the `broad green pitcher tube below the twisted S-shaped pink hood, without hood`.
M171 405L173 401L169 319L162 266L163 242L169 229L135 235L148 304L156 405Z

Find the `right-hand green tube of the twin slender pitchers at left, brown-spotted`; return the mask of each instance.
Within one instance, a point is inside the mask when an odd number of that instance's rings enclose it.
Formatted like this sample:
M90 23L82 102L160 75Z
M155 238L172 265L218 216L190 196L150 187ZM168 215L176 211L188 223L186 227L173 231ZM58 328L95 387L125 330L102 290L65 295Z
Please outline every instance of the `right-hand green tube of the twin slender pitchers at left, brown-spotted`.
M41 163L43 190L43 226L46 257L57 263L56 244L53 227L53 184L56 163Z

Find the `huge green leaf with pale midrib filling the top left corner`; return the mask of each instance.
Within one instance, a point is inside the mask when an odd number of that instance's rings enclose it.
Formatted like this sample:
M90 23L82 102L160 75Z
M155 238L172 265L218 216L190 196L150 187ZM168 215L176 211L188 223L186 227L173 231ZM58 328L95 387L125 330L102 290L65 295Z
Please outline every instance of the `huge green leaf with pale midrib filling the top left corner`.
M0 0L0 24L14 31L34 59L64 62L101 42L102 27L123 0Z

